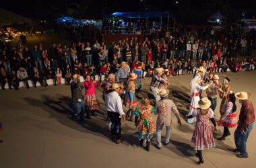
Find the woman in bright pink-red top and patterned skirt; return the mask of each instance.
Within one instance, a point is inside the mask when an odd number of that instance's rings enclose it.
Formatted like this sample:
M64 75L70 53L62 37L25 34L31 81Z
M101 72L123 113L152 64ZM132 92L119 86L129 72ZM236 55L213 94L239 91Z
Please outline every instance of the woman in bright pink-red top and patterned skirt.
M87 110L86 118L88 119L90 119L90 112L92 113L92 116L98 116L95 114L95 111L99 108L95 89L99 85L102 85L102 83L98 84L97 81L94 81L90 75L86 75L84 86L86 87L85 104Z

